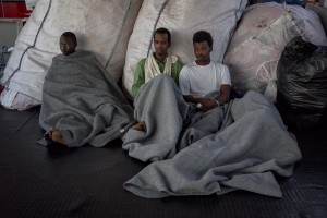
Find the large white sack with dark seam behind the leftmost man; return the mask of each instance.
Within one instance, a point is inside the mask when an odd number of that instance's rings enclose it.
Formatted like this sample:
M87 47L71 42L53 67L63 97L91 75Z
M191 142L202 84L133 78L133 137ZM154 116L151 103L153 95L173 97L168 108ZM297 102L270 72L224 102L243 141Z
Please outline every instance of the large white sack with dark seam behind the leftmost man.
M71 31L77 49L93 51L111 76L123 73L128 41L143 0L38 0L20 33L1 80L1 104L24 110L40 104L44 77Z

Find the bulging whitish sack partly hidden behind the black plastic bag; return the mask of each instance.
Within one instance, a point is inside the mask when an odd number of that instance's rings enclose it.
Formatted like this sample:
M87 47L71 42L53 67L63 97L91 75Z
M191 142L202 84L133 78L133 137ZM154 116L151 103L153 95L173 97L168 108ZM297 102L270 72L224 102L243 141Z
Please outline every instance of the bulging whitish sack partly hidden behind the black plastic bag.
M257 90L275 101L278 60L298 35L313 44L327 45L319 17L312 11L275 2L246 8L223 60L233 88L240 94Z

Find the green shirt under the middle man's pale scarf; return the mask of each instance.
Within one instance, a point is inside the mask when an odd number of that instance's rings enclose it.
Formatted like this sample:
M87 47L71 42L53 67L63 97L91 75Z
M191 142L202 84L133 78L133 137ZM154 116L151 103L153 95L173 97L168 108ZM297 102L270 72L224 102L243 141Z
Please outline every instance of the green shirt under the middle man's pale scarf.
M144 64L145 64L146 58L142 59L134 71L134 83L132 86L132 96L135 97L138 88L145 83L145 71L144 71ZM159 70L161 73L164 73L166 59L164 61L156 60L159 66ZM175 84L179 85L179 75L180 71L183 68L183 64L180 60L178 60L175 63L171 64L171 77L174 80Z

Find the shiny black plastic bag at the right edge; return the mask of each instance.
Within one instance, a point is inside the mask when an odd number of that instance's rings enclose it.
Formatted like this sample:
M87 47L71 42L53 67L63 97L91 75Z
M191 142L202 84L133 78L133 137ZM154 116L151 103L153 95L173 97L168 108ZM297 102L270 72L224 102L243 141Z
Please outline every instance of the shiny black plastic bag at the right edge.
M291 125L300 129L326 125L327 46L294 37L278 63L277 105Z

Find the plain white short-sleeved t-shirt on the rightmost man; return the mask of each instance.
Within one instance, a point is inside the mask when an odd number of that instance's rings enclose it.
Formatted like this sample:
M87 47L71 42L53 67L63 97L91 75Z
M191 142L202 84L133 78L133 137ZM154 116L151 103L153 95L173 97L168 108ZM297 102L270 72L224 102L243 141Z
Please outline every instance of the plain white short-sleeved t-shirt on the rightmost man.
M180 72L179 85L183 95L204 97L213 90L220 90L221 85L231 85L227 65L210 62L197 65L195 61L184 65Z

